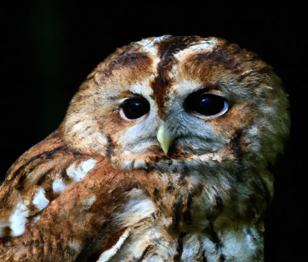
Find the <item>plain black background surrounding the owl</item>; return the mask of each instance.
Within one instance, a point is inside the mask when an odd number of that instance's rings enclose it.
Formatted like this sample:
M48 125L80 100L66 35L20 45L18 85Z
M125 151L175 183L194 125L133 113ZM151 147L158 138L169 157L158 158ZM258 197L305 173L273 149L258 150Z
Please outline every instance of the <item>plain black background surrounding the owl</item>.
M304 257L307 14L301 12L303 7L63 2L12 3L2 10L0 179L23 152L57 129L81 82L116 47L164 34L221 37L261 55L290 94L290 139L286 153L271 167L276 191L266 218L265 261Z

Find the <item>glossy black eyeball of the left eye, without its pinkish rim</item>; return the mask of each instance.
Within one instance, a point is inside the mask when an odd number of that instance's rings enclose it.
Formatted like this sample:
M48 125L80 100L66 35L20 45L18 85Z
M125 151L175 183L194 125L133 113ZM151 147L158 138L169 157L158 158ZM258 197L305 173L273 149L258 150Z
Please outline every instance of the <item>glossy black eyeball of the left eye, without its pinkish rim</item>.
M145 99L128 99L124 103L123 110L128 119L137 119L150 111L150 104Z

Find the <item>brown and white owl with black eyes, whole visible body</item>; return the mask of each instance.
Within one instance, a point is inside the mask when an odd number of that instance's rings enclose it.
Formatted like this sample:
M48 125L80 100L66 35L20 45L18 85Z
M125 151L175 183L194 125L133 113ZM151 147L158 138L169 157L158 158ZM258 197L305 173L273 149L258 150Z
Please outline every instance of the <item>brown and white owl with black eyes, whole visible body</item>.
M279 77L215 37L116 49L0 188L0 261L263 261Z

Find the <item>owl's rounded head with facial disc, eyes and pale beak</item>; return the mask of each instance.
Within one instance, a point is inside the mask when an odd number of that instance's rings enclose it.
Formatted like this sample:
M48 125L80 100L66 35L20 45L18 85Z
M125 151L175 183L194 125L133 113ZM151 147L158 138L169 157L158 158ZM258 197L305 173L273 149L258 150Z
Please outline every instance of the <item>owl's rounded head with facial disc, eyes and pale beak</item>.
M76 151L124 169L273 162L288 133L280 79L219 38L143 39L119 48L80 86L61 125Z

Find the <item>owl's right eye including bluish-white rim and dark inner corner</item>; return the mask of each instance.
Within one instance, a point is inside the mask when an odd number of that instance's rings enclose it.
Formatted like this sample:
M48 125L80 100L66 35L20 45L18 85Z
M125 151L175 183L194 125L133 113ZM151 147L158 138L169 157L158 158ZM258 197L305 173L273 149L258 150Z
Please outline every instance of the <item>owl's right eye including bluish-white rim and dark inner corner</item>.
M228 103L221 96L201 94L188 97L185 103L186 110L206 117L216 117L228 110Z

